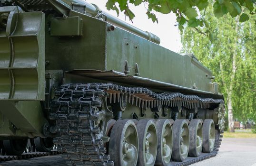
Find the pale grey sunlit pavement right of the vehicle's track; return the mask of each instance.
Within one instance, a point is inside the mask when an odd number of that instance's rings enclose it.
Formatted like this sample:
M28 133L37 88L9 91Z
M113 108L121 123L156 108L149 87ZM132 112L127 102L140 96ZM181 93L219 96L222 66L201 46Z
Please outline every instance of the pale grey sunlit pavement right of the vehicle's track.
M256 166L256 139L223 138L216 157L191 166Z

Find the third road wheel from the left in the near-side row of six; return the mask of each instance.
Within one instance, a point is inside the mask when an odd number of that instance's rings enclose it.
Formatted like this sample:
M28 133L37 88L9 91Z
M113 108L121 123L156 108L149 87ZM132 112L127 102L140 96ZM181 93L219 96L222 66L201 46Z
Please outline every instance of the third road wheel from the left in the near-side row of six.
M170 120L157 120L158 153L155 166L167 166L172 155L172 125Z

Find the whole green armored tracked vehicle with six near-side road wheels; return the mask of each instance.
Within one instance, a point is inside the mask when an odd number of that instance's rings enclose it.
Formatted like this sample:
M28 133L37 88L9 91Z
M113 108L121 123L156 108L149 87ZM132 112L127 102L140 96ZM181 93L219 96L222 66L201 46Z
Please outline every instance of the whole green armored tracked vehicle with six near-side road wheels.
M68 166L188 165L216 156L224 100L193 54L85 0L0 0L5 155L54 144Z

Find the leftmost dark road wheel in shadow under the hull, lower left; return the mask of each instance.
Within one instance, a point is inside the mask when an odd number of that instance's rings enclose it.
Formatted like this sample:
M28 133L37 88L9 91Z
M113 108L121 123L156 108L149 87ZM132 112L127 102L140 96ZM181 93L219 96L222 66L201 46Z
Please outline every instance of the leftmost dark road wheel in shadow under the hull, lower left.
M3 147L7 155L20 156L26 150L27 144L27 138L3 140Z

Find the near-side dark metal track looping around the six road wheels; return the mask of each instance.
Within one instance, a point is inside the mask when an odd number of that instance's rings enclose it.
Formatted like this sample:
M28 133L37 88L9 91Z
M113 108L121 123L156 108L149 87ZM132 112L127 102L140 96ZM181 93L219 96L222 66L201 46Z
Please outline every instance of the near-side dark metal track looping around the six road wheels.
M196 95L184 95L177 92L156 93L147 88L123 87L112 83L64 84L56 91L52 102L53 112L50 119L56 120L56 126L50 131L58 133L54 138L62 157L68 166L113 166L110 156L106 155L104 143L108 137L100 131L100 122L110 112L101 112L104 100L119 102L120 98L140 108L154 108L158 105L171 107L183 106L187 109L210 108L220 104L221 99L202 99ZM105 100L106 101L106 100ZM112 118L112 117L111 117ZM111 119L110 118L110 119ZM99 123L97 123L99 122ZM197 158L187 158L184 162L171 162L171 165L185 166L217 155L219 131L216 134L215 151Z

